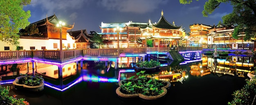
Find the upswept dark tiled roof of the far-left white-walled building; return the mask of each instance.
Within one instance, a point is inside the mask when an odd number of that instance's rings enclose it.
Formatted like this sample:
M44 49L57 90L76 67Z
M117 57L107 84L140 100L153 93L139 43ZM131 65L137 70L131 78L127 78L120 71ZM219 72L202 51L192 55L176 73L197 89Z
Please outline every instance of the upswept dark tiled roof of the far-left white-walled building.
M58 18L56 17L55 13L53 16L47 17L39 20L37 22L31 23L30 25L34 25L36 24L37 26L43 26L43 25L48 25L48 24L52 24L52 25L57 25L59 22ZM67 28L67 29L72 29L74 27L73 25L64 25L63 27Z

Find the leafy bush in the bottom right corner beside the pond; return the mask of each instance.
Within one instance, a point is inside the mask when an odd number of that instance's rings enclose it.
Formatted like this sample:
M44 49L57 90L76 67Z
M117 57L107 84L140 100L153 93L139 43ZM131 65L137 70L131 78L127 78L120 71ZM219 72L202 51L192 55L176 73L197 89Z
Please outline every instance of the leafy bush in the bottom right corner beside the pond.
M254 67L256 69L256 67ZM255 74L255 70L252 71L252 74ZM251 80L246 79L245 86L235 91L232 95L234 96L231 102L228 102L228 105L254 105L255 96L256 96L256 78L252 77Z

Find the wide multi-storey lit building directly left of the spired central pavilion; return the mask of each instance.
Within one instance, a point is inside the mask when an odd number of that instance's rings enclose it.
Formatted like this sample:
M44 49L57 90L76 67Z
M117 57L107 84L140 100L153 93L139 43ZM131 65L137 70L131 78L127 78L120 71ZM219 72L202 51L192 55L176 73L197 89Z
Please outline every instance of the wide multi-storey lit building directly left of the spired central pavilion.
M147 23L139 22L123 22L123 23L103 23L101 22L101 34L104 45L103 48L117 48L117 37L119 36L119 47L141 47L141 31L140 26Z

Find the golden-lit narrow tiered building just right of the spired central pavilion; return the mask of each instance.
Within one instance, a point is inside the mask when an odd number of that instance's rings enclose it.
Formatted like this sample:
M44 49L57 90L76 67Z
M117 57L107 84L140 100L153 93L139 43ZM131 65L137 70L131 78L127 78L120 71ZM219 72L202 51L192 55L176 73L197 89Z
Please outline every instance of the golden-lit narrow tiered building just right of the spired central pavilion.
M190 47L203 47L207 48L207 34L209 33L208 29L211 28L210 25L203 24L194 24L190 25L190 36L189 43Z

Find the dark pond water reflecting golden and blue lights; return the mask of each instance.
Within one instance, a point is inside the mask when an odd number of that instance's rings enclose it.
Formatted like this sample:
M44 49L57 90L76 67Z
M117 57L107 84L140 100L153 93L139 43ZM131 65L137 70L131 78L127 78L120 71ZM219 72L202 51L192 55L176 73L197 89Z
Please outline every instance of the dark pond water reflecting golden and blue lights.
M36 93L11 89L10 95L16 94L18 98L25 98L30 105L227 105L233 99L231 94L245 85L247 73L254 67L254 59L242 55L213 58L201 54L195 62L158 60L164 65L156 71L146 72L147 74L160 78L167 74L181 73L182 79L175 81L178 77L171 76L161 78L170 81L171 87L166 96L157 101L148 102L139 98L123 100L117 96L117 81L138 72L131 67L129 60L120 63L119 69L113 69L112 65L106 67L105 62L85 62L87 67L78 69L73 78L67 78L70 79L67 81L73 81L80 77L80 81L63 92L45 86L42 92ZM101 82L102 78L108 78L109 81Z

